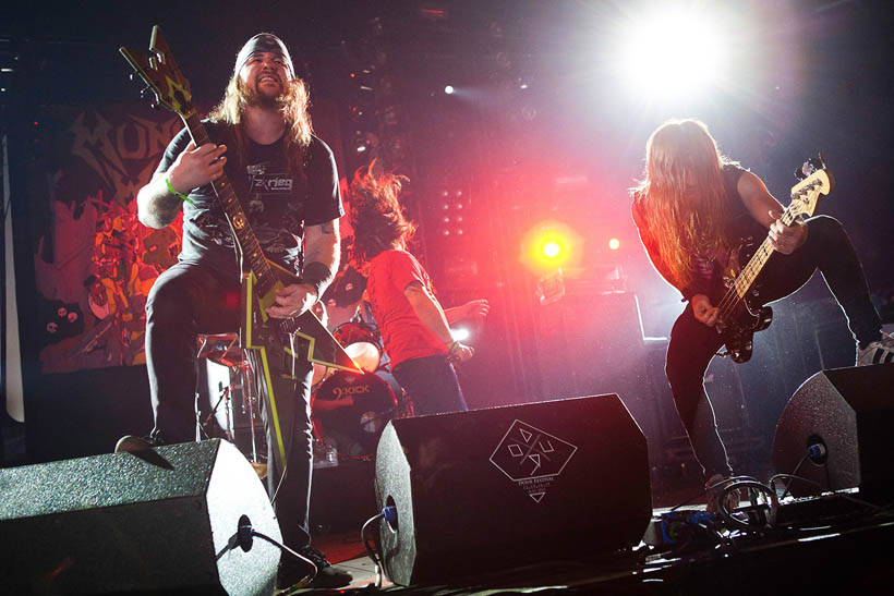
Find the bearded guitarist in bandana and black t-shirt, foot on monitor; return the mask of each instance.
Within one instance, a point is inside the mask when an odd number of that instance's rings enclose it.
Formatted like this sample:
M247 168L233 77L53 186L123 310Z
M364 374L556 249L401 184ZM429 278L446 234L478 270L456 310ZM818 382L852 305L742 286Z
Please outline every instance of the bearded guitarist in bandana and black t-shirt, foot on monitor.
M239 329L241 268L224 209L210 182L225 172L268 258L301 276L267 308L290 318L311 308L338 270L338 218L343 215L333 153L312 134L307 89L285 44L267 33L242 47L221 102L205 122L212 143L196 147L184 129L171 141L152 181L137 195L140 221L169 226L183 209L179 263L155 282L146 304L146 361L155 413L155 443L195 438L193 396L197 333ZM188 196L186 196L188 195ZM277 361L277 358L274 358ZM280 369L270 377L285 435L286 461L268 441L268 489L287 546L314 561L314 586L337 587L351 576L310 545L311 363L294 363L299 381ZM265 403L265 411L267 404ZM126 448L126 447L125 447ZM306 574L292 558L280 563L278 587Z

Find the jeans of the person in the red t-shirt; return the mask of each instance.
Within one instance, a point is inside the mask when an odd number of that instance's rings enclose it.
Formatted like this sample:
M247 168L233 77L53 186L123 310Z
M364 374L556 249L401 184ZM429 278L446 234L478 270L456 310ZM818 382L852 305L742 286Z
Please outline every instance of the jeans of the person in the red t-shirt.
M419 415L469 410L457 373L447 356L406 360L392 373L413 400L413 410Z

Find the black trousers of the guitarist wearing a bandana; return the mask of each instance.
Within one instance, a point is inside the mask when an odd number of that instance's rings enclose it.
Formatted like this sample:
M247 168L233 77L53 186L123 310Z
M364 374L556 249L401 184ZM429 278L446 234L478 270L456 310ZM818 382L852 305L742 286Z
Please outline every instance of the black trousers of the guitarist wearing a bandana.
M239 329L238 279L200 265L178 263L161 273L146 303L146 365L155 414L153 437L165 442L195 440L196 336ZM255 374L259 357L251 351ZM267 489L274 499L283 542L292 548L310 542L312 427L309 362L297 365L299 381L282 378L281 361L270 362L276 403L261 382L262 415L267 429ZM273 408L271 408L273 406ZM273 424L275 410L278 424ZM282 457L285 453L285 458Z

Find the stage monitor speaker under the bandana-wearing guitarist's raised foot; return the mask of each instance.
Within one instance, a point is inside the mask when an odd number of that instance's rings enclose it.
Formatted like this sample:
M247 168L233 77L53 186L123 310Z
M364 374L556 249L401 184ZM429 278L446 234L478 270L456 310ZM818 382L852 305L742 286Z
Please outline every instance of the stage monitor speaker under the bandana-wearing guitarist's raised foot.
M0 470L9 594L273 594L280 540L251 464L219 439Z

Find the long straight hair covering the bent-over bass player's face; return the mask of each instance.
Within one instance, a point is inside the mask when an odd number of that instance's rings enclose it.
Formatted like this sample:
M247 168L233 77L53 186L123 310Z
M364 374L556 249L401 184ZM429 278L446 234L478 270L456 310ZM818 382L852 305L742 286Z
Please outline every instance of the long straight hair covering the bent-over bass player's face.
M694 276L697 256L728 250L723 156L708 126L669 120L645 145L645 177L633 190L662 259L681 287Z

